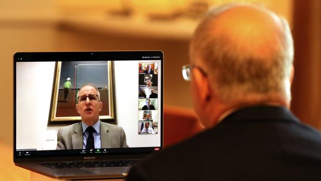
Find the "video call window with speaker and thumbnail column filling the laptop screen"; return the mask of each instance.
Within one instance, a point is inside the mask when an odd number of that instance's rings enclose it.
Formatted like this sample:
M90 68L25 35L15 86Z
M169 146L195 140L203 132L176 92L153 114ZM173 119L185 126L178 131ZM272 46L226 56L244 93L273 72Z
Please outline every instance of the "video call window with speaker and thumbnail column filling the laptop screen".
M83 94L85 85L96 87L99 98ZM161 60L16 62L15 89L17 156L161 147ZM99 102L89 149L81 120L94 115Z

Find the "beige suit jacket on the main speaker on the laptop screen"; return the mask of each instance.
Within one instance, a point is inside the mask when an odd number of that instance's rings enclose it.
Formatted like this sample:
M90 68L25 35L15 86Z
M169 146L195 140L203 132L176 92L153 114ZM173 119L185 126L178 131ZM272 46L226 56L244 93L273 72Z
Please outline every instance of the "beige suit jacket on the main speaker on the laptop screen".
M81 122L75 123L58 130L56 149L83 149ZM128 147L126 135L119 126L100 121L101 148Z

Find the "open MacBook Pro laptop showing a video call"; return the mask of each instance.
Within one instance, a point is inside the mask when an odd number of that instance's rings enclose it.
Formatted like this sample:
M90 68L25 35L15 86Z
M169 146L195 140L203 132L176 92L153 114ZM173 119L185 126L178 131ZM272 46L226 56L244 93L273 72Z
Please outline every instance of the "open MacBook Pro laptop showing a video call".
M13 64L16 166L63 180L125 178L162 149L162 51L17 52ZM92 148L76 110L97 101L81 98L86 85L102 102Z

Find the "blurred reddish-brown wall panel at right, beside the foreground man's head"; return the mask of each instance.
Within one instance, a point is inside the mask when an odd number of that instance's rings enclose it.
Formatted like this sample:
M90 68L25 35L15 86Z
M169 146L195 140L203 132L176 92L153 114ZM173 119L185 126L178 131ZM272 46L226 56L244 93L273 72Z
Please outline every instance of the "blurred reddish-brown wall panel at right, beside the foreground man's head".
M321 6L294 0L294 80L291 110L321 130Z

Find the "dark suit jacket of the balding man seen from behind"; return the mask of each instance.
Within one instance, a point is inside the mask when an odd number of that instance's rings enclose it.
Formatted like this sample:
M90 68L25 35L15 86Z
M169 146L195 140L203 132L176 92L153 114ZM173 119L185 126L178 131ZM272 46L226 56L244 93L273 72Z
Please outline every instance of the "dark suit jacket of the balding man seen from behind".
M284 107L248 107L139 162L127 180L321 181L321 133Z

